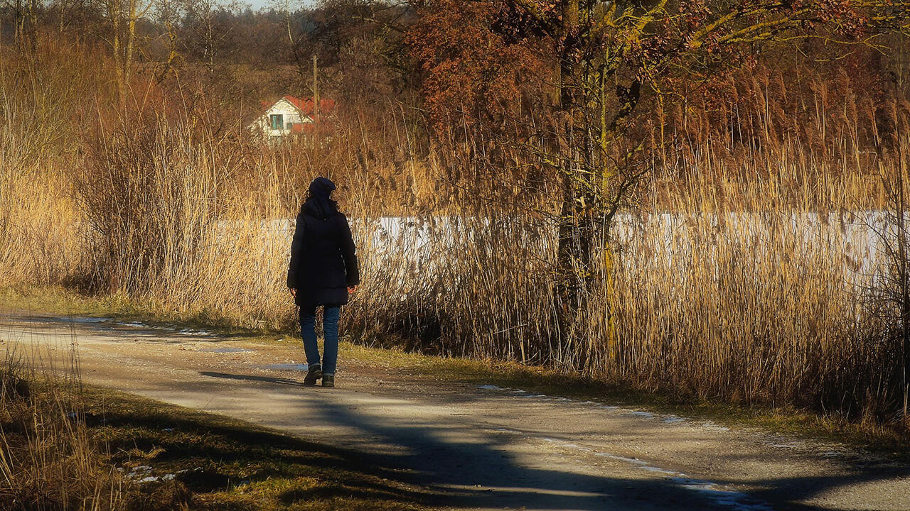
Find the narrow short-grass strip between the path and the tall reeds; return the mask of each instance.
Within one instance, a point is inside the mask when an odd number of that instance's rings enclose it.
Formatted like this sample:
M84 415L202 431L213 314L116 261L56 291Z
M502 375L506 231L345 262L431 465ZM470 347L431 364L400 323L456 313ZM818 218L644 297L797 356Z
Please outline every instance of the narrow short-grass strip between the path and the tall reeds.
M220 333L246 336L269 342L288 342L286 335L260 330L238 329L207 323L195 318L188 321L172 314L157 314L132 305L125 298L89 297L58 287L42 289L0 289L0 308L40 311L50 314L106 316L123 320L140 320L147 324L205 326ZM296 341L294 341L296 344ZM855 422L841 416L822 416L811 410L792 407L737 406L712 400L678 399L660 393L606 383L584 376L521 364L493 360L443 358L404 353L396 349L377 349L342 343L345 359L361 364L385 366L411 376L522 388L536 393L597 400L620 406L632 406L661 414L711 420L731 427L755 427L763 430L844 444L873 451L876 454L910 459L910 436L899 428L869 422Z

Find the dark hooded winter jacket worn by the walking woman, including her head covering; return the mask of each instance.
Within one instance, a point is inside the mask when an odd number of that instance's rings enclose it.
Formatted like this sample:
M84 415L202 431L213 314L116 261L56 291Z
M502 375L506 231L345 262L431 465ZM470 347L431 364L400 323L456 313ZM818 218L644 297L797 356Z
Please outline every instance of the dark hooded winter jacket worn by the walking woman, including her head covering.
M360 283L348 218L329 198L334 189L324 177L315 180L297 215L288 287L297 289L296 302L301 307L347 304L348 287Z

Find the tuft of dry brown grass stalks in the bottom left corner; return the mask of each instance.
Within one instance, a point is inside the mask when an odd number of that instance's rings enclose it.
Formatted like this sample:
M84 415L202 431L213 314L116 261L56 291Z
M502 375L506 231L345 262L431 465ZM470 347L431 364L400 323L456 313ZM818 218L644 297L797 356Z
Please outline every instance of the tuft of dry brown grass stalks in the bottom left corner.
M78 380L39 372L7 351L0 363L0 507L127 509L129 486L105 463L78 406Z

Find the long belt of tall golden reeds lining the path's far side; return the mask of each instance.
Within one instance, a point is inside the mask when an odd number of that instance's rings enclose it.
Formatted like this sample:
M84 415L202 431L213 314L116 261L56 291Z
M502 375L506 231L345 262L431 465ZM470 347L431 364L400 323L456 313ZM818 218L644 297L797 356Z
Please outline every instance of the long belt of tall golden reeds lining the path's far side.
M105 120L72 140L35 141L15 119L44 100L5 80L0 231L13 242L0 279L88 283L179 316L290 328L287 220L308 180L329 175L359 242L364 286L345 321L365 342L893 422L902 333L895 306L873 298L891 293L894 262L870 252L893 229L860 234L888 223L865 212L892 209L907 105L851 104L849 84L834 102L824 82L794 98L776 81L736 85L751 87L740 94L751 106L665 119L675 153L655 156L665 164L613 226L601 257L612 272L571 332L557 330L551 285L555 184L535 176L536 193L486 200L501 182L441 164L458 158L382 105L343 116L319 145L253 144L240 124L209 127L206 105L161 98L141 115L95 113ZM71 134L67 123L49 129ZM384 215L408 219L385 235Z

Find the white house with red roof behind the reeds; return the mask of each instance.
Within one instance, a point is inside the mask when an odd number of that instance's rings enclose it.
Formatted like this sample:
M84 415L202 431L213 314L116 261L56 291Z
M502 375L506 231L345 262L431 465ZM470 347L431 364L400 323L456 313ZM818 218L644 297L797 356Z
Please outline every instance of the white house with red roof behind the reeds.
M319 113L313 112L313 100L286 95L269 106L263 103L265 112L249 125L249 129L266 138L286 136L295 133L313 133L319 122L319 132L329 127L326 119L335 109L335 101L319 100Z

